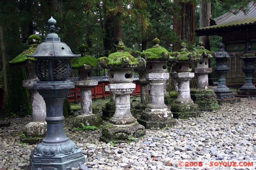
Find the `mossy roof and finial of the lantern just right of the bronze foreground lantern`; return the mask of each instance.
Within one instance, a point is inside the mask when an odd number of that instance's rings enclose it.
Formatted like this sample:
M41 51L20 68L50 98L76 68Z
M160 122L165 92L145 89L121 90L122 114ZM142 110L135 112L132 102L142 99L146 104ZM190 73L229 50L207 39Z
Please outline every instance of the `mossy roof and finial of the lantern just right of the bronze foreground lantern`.
M86 52L88 49L89 47L86 45L82 45L78 48L81 52L81 57L75 57L70 61L72 69L89 69L90 67L97 66L97 59L88 55L89 53Z

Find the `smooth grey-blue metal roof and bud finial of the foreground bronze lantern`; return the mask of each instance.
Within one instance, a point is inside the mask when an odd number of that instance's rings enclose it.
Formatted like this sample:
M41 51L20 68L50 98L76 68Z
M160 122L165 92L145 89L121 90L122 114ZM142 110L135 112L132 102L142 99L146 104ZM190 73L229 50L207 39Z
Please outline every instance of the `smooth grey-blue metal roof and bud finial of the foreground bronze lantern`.
M72 57L80 57L81 55L75 55L71 52L70 48L67 44L60 42L60 38L58 34L54 33L56 20L52 17L48 20L49 27L47 27L50 31L45 38L45 42L38 45L36 51L32 55L27 55L28 57L34 57L35 59L40 60L59 60L59 59L69 59Z

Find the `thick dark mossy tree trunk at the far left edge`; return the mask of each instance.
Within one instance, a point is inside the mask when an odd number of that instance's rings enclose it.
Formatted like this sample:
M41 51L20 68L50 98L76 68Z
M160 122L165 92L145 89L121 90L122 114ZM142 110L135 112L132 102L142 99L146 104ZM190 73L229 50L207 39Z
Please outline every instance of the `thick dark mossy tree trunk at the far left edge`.
M21 16L20 3L21 1L0 1L0 39L4 82L2 117L32 114L29 92L22 87L22 80L26 79L26 70L24 67L13 68L8 64L24 49L24 45L21 44L20 29L27 18Z

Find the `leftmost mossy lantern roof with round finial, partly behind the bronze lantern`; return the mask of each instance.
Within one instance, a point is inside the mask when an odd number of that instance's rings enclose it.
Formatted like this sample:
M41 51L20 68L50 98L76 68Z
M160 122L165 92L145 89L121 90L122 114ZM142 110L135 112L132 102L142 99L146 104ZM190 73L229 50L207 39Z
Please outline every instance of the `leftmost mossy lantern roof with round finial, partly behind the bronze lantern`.
M16 56L9 63L12 66L27 66L27 65L33 64L36 61L36 59L33 57L27 57L27 55L31 55L35 52L36 47L38 46L40 41L41 41L41 38L38 35L35 35L35 34L30 35L28 37L29 48L24 50L21 54Z

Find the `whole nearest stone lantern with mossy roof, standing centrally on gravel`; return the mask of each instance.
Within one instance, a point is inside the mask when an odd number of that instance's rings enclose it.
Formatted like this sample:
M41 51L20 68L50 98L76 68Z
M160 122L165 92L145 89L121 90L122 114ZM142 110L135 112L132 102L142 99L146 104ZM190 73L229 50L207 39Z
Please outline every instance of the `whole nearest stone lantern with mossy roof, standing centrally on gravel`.
M143 58L134 58L130 53L124 52L124 44L118 43L118 52L98 59L98 65L108 70L109 89L116 97L116 111L102 128L100 140L117 143L135 140L145 134L144 126L140 125L130 111L130 94L135 89L132 83L133 68L145 67Z

